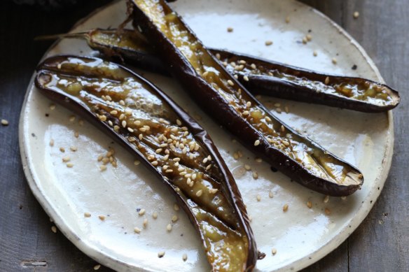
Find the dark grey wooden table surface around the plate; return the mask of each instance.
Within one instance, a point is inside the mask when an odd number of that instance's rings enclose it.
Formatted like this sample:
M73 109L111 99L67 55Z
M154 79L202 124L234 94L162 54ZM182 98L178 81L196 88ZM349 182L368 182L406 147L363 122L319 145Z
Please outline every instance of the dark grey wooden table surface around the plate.
M0 125L0 271L93 271L97 264L62 234L50 230L52 224L22 171L18 118L29 79L50 45L33 38L64 33L107 2L88 0L58 14L0 3L0 119L10 122L7 127ZM409 1L303 2L323 11L354 36L402 96L401 105L394 110L394 159L380 198L345 243L304 271L409 271ZM360 13L356 20L354 11Z

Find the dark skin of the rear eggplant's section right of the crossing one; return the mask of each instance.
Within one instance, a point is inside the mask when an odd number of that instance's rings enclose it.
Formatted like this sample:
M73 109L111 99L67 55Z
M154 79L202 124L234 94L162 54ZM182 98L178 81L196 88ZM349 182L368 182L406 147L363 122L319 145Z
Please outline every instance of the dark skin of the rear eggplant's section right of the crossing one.
M385 90L388 90L389 95L392 97L394 103L386 106L378 106L373 103L368 103L357 99L349 99L347 97L336 96L325 92L317 92L312 88L293 83L288 80L282 80L274 76L264 76L248 73L248 81L244 80L243 76L239 76L240 83L242 83L244 87L247 87L247 90L251 90L253 94L264 94L268 96L279 97L282 99L289 99L307 103L317 103L325 106L346 108L349 110L356 110L365 113L380 113L391 110L392 108L398 106L398 103L400 101L399 94L398 92L396 92L396 90L393 90L387 85L376 83L373 80L347 76L336 76L326 73L317 73L308 69L302 69L296 66L286 65L279 62L272 62L267 59L262 59L259 57L245 55L228 50L212 49L211 52L214 55L219 54L222 61L228 59L229 62L237 62L238 60L243 59L247 61L247 63L253 63L256 64L256 66L263 66L268 70L277 69L278 71L283 71L284 73L298 73L298 77L306 78L307 80L324 82L328 77L330 82L353 81L355 83L373 83L382 86ZM237 74L240 75L240 73Z

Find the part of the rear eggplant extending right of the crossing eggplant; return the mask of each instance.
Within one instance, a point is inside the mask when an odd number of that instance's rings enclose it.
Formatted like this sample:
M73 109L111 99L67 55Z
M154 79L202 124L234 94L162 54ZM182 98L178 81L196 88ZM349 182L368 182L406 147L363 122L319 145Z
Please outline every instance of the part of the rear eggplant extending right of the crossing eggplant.
M212 53L254 94L363 112L391 110L400 101L398 92L372 80L316 73L226 50Z

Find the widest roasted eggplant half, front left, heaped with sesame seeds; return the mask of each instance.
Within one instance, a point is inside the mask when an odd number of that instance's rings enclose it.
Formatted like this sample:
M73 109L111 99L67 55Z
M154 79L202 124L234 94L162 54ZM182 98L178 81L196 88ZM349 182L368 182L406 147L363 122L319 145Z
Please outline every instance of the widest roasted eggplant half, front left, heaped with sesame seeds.
M244 203L199 124L148 81L102 59L46 59L36 86L95 122L169 186L205 245L214 271L246 271L257 251Z

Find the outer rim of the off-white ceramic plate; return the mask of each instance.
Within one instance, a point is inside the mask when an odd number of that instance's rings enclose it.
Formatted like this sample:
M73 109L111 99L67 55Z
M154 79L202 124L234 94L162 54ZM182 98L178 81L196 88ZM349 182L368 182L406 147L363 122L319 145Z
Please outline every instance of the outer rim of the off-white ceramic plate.
M81 24L84 24L88 20L90 20L91 17L93 17L95 14L99 13L101 10L104 10L106 8L110 8L111 6L116 5L118 2L121 2L124 0L115 0L112 1L111 3L108 3L104 6L101 6L99 8L96 8L93 10L91 13L88 15L85 15L85 17L81 18L78 20L73 27L68 31L71 32L76 27L78 27ZM328 16L326 16L324 13L321 13L321 11L313 8L312 6L309 6L305 3L302 3L298 0L292 0L293 2L298 3L300 6L305 6L310 8L315 14L317 14L319 17L323 18L326 20L328 24L331 25L331 27L334 27L335 30L337 30L342 36L347 38L348 41L351 42L352 46L358 50L358 52L362 55L363 59L368 63L370 66L370 69L373 70L375 73L375 76L377 77L377 80L380 81L380 83L384 83L384 79L382 78L379 69L377 69L377 66L373 62L373 59L371 59L368 55L368 53L363 49L363 47L354 39L350 34L347 33L345 29L340 27L336 22L331 20ZM41 57L39 63L43 61L43 59L46 58L50 50L53 50L55 46L60 43L61 39L58 39L55 41L52 45L50 45L50 48L46 50L46 52L43 54ZM127 264L126 262L120 261L117 257L113 255L109 255L105 252L102 252L96 247L93 247L86 241L81 240L78 236L76 236L75 232L67 225L65 224L65 220L63 217L60 217L57 212L55 212L55 209L53 208L53 205L50 204L50 201L48 201L48 197L43 194L41 189L38 187L36 180L34 179L34 174L32 173L31 166L29 164L29 160L27 158L27 152L26 152L26 145L27 142L25 140L25 108L27 107L27 101L29 94L32 92L34 89L34 78L35 78L36 72L34 70L34 73L32 75L32 78L29 81L29 84L27 86L25 98L22 103L22 108L20 110L20 118L19 118L19 127L18 127L18 138L19 138L19 148L20 148L20 155L22 159L22 169L25 173L25 178L27 179L27 183L29 184L30 189L32 190L32 193L34 194L34 197L36 198L37 201L39 201L41 207L43 210L47 213L50 218L53 219L55 225L57 228L66 236L71 243L73 243L76 248L81 250L85 255L88 255L88 257L91 257L92 259L95 259L95 261L99 262L99 264L103 264L107 267L110 267L111 269L121 269L125 271L155 271L151 269L143 269L141 267L137 266L132 266L130 264ZM380 193L382 192L382 189L384 187L384 184L387 180L387 177L389 175L389 170L391 168L391 161L393 157L393 152L394 152L394 120L393 120L393 113L391 110L387 112L387 120L388 120L388 127L387 131L387 142L386 142L386 148L385 152L383 155L382 159L382 171L379 173L379 175L375 178L373 186L370 188L368 192L368 198L371 198L372 203L369 201L363 201L359 208L357 208L356 213L354 214L354 217L352 217L349 221L347 221L345 224L349 225L349 227L342 227L340 232L338 234L335 234L333 238L331 238L329 241L327 241L324 245L322 245L320 248L317 250L314 250L311 252L310 255L307 255L303 258L296 259L296 261L291 262L289 264L285 264L284 266L280 267L279 269L275 271L288 271L288 270L296 270L299 271L301 269L304 269L307 266L310 266L311 264L314 264L315 262L318 262L320 259L331 253L335 248L338 248L338 246L343 243L349 236L356 230L357 227L365 220L366 216L372 209L373 205L377 201L378 197L380 196ZM379 186L377 186L379 185ZM377 187L380 187L380 189L377 189ZM122 266L122 267L121 267Z

